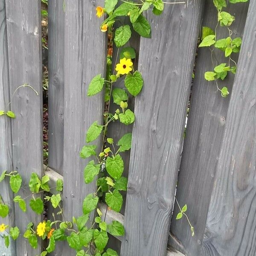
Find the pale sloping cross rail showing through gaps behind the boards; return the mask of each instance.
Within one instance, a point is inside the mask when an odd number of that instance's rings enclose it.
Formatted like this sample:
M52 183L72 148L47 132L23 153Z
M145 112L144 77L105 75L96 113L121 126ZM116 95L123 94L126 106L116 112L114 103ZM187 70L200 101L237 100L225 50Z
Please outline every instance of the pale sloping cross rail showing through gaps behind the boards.
M56 193L55 187L56 187L56 181L58 179L63 180L63 176L59 175L58 172L55 172L53 169L44 166L44 174L49 177L49 187L50 192L52 194ZM102 218L105 219L105 222L107 224L110 224L112 221L119 221L120 223L124 224L125 222L125 216L121 213L115 212L108 208L108 206L102 202L99 202L98 204L99 209L102 211ZM122 241L122 236L115 236L116 239ZM183 253L180 253L179 251L175 250L174 248L167 248L166 250L166 256L185 256Z

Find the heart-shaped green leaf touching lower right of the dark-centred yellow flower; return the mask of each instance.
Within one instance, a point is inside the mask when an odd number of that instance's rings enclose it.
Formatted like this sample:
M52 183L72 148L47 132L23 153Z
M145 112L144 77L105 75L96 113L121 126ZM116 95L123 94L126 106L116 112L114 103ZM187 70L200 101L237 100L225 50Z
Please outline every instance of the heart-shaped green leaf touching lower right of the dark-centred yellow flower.
M143 87L143 78L139 71L128 73L125 77L125 87L133 96L137 96Z

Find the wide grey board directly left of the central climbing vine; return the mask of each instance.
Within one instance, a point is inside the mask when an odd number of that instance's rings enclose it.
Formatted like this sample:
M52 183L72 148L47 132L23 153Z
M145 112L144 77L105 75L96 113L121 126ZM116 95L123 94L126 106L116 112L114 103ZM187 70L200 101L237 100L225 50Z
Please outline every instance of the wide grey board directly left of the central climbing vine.
M64 117L64 217L81 215L84 198L96 191L96 182L84 183L83 160L79 152L85 134L94 121L102 124L103 93L87 97L91 79L102 74L106 66L106 34L99 29L103 21L96 17L96 6L103 1L70 0L65 2L65 117ZM101 151L102 138L93 141ZM65 255L74 250L64 245Z

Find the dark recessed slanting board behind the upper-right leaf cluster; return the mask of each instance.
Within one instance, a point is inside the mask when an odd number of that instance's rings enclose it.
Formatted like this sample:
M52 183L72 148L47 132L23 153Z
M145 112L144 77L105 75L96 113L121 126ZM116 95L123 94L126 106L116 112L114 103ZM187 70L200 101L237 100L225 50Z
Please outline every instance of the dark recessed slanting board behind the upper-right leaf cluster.
M242 36L247 9L247 3L229 4L227 8L227 12L236 16L235 22L230 26L233 38ZM203 26L214 29L217 22L216 8L212 0L207 0ZM217 40L227 36L228 30L218 26ZM214 63L215 58L218 64L226 62L224 53L218 49L215 50ZM237 61L238 54L234 54L232 58ZM179 210L175 204L172 234L169 239L169 244L173 247L192 256L199 255L204 237L211 189L230 100L230 95L225 99L221 97L214 82L204 79L204 73L210 70L213 70L210 51L207 48L199 48L176 194L178 202L188 206L188 215L195 227L195 236L191 236L185 218L175 220ZM233 80L234 75L229 75L219 83L219 87L227 86L231 92Z

